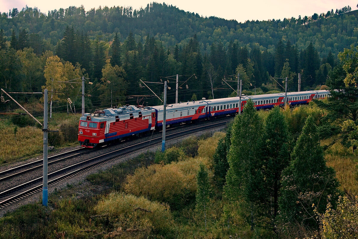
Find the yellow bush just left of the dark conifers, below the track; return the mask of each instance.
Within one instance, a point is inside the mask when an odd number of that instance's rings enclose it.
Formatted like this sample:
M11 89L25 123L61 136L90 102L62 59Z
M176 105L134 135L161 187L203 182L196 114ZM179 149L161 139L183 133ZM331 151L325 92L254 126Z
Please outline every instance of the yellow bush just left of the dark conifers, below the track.
M218 146L219 140L225 137L223 132L215 132L213 137L207 138L205 140L200 140L198 142L198 156L202 159L206 158L207 161L203 163L208 167L213 167L213 155L215 153L216 147Z

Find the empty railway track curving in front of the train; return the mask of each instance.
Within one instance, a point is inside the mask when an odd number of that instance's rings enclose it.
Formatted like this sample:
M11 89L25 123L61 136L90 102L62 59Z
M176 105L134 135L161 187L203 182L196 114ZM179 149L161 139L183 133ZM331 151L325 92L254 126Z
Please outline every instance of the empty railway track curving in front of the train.
M210 125L198 126L189 130L184 130L177 133L168 134L166 136L166 141L178 140L183 137L187 137L193 135L199 131L204 130L215 130L216 128L222 128L226 125L228 121L212 123ZM139 152L142 150L146 150L150 147L161 145L161 137L156 137L151 140L147 140L144 142L137 143L135 145L131 145L128 147L124 147L109 153L105 153L100 156L96 156L77 164L65 167L63 169L57 170L48 174L48 185L54 185L58 182L67 180L71 177L74 177L82 172L85 172L90 169L94 169L98 166L104 165L110 161L118 160L119 158L131 155L132 153ZM72 152L72 151L70 151ZM69 152L67 152L69 153ZM79 153L78 151L73 153ZM42 160L39 160L42 161ZM42 166L42 165L41 165ZM20 172L15 172L17 175L23 174L24 170L20 170ZM7 176L9 177L9 175ZM23 199L24 197L30 196L38 191L42 190L43 179L42 177L38 177L37 179L25 182L24 184L15 186L11 189L0 192L0 208L5 208L6 206Z

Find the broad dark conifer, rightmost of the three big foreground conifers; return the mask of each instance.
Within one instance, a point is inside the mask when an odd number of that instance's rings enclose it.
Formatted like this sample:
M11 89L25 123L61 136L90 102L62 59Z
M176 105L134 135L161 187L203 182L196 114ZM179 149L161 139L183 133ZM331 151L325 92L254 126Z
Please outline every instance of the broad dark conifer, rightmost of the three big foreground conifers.
M314 119L309 116L292 151L291 162L282 172L282 219L317 227L313 204L323 213L328 195L335 199L338 186L334 170L324 161Z

